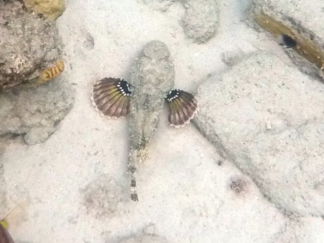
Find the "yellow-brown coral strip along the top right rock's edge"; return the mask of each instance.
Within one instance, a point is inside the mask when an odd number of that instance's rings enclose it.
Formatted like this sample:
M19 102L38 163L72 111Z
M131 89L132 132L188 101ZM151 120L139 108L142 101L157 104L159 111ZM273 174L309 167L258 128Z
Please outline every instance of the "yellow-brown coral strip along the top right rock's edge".
M294 50L308 61L316 64L321 70L324 69L324 51L310 38L303 36L296 29L284 25L263 12L256 14L255 19L262 28L276 37L280 34L291 36L297 44Z

